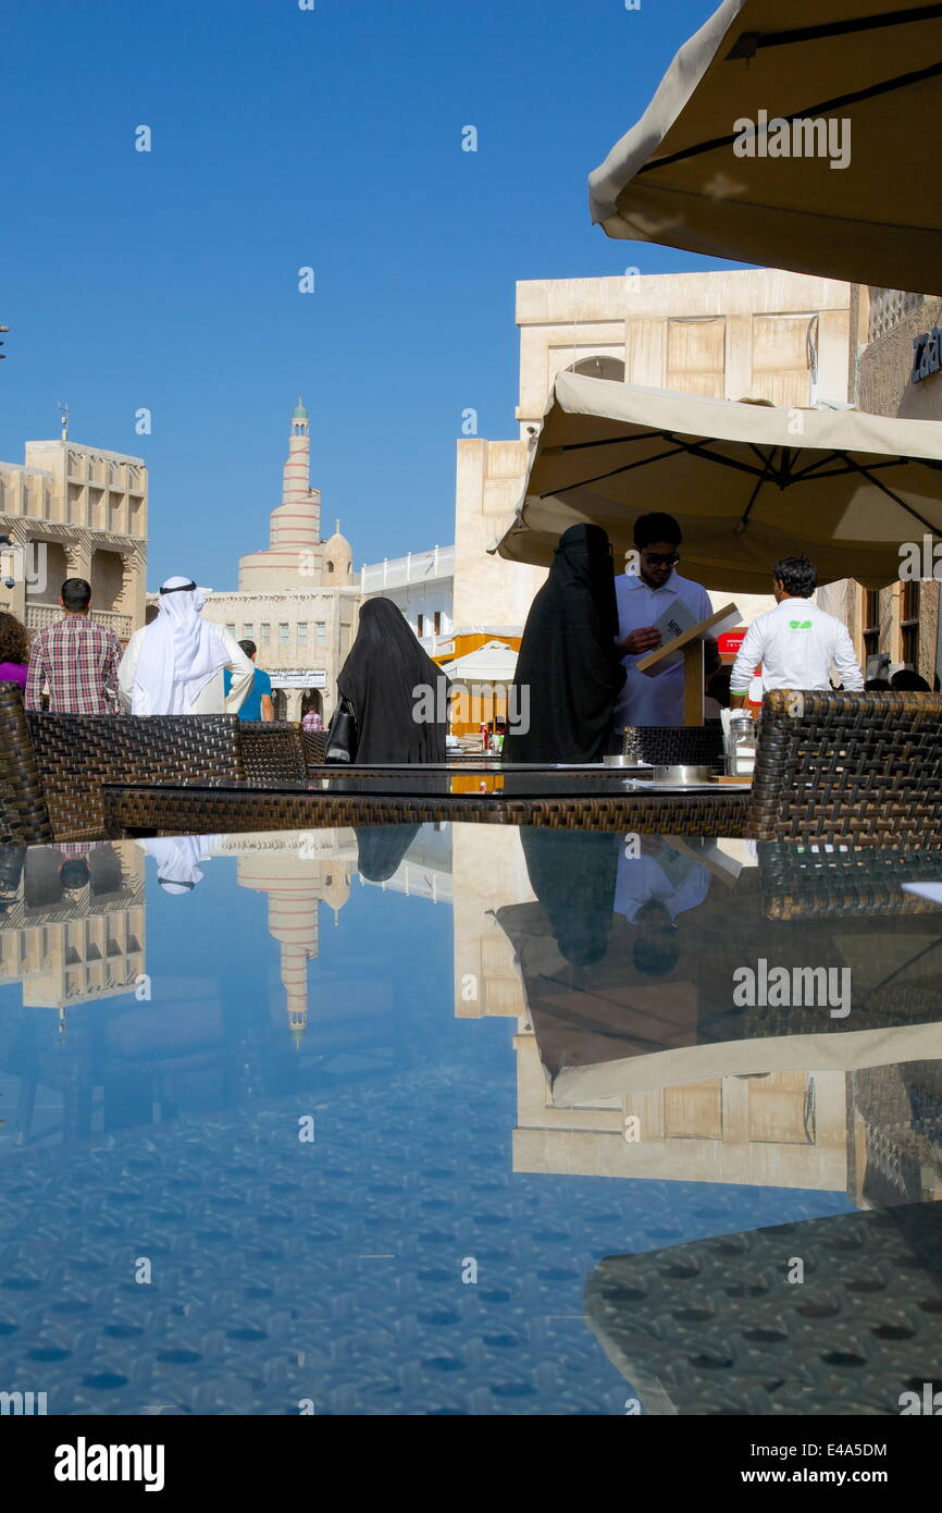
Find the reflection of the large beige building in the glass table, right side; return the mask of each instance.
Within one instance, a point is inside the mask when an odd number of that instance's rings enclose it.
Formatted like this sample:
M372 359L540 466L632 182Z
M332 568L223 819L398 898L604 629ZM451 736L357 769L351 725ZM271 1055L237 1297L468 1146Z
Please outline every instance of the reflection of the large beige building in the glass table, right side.
M454 826L452 870L455 1014L517 1018L514 1171L847 1192L860 1207L942 1197L942 1062L853 1073L779 1070L714 1076L612 1097L553 1100L514 947L494 918L496 911L534 899L520 832ZM723 918L736 906L736 893L720 882L712 884L715 897L702 905L714 915L712 926L706 923L703 929L705 938L718 938ZM753 868L738 884L742 914L759 908L756 882ZM827 929L826 921L823 927ZM913 950L918 964L918 943L912 937L907 943L906 934L894 935L897 955L888 955L885 934L877 935L875 947L871 937L872 927L860 930L856 944L850 929L847 937L841 935L841 950L853 964L854 982L863 988L871 986L868 970L878 979L888 962L895 971ZM747 959L741 943L735 950ZM877 962L883 964L880 970ZM561 956L558 965L564 980ZM702 967L705 974L717 976L706 958ZM552 953L546 970L553 979ZM696 983L658 986L658 1002L671 991L682 1011L686 993L696 1012ZM931 991L928 979L925 991ZM631 1002L632 990L621 997ZM587 997L587 1024L591 1024L590 1005ZM573 1033L581 1033L578 1012ZM892 1036L886 1044L891 1058ZM632 1118L638 1120L637 1139L626 1138L635 1133Z

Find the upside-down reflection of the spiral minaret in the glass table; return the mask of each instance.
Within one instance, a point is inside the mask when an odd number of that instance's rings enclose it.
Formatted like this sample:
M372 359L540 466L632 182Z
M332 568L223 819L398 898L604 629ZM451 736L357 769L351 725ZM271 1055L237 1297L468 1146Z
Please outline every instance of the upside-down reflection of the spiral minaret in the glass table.
M237 856L240 888L268 894L268 929L281 950L287 1024L298 1050L308 1024L307 964L319 955L321 902L337 912L349 897L357 846L348 831L222 837L215 855Z

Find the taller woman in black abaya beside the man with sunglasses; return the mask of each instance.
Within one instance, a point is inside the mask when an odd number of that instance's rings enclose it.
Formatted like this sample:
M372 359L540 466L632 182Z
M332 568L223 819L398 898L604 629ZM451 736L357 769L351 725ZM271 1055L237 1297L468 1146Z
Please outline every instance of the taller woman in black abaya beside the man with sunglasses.
M608 536L599 525L570 525L526 617L505 761L602 761L624 682L617 634Z

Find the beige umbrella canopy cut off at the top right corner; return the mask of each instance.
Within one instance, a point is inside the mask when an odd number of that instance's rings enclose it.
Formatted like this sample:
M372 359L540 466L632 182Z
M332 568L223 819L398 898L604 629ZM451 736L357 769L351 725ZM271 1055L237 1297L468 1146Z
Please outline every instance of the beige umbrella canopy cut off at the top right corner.
M724 0L590 176L593 221L614 238L940 292L940 14Z

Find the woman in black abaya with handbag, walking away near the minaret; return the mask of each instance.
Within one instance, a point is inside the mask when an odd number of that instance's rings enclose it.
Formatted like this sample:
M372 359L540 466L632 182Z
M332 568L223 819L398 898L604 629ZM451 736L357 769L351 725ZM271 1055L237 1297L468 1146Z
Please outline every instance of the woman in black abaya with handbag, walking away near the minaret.
M337 678L352 707L357 763L445 761L449 682L390 599L367 599Z

